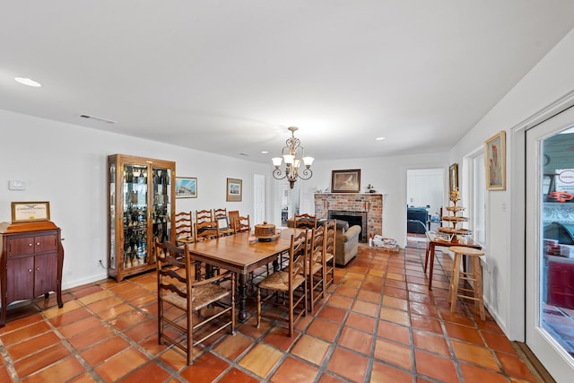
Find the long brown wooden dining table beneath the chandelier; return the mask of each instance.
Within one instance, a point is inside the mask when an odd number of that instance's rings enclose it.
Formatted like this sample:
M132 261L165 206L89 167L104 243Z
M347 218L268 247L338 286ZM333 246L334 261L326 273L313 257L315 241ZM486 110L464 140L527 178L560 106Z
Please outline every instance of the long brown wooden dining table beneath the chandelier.
M248 318L246 312L248 274L263 265L274 262L280 254L291 247L291 234L302 229L284 229L277 239L249 243L250 234L240 232L228 237L204 240L187 244L190 256L205 263L230 270L239 279L239 315L240 321ZM276 264L276 263L275 263Z

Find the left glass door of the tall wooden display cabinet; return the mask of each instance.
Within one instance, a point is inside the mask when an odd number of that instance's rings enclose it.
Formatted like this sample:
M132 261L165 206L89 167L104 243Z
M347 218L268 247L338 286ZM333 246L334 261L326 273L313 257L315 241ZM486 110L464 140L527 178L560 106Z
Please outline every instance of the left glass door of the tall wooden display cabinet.
M124 268L148 263L148 167L124 165Z

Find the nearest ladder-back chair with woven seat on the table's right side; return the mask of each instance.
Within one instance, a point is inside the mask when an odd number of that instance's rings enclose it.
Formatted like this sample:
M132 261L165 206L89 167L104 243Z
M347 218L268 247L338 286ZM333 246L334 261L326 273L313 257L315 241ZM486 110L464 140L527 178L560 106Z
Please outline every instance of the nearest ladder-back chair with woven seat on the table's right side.
M289 336L293 336L295 322L307 315L307 231L291 235L289 249L289 265L285 270L276 271L257 283L257 327L261 325L261 317L287 320ZM261 291L268 294L262 298ZM263 314L262 305L271 305L287 309L287 318L277 315L276 310Z

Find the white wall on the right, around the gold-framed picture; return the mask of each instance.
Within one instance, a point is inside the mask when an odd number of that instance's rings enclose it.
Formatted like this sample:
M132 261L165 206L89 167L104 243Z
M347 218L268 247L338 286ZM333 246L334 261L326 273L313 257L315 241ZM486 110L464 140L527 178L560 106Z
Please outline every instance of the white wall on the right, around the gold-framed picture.
M574 30L509 91L452 149L450 162L480 148L491 135L507 134L507 189L487 192L485 274L489 311L511 340L524 341L525 176L524 127L530 118L574 91ZM465 177L467 170L459 170ZM465 182L463 183L463 185ZM465 203L465 190L462 190ZM535 235L535 233L526 233Z

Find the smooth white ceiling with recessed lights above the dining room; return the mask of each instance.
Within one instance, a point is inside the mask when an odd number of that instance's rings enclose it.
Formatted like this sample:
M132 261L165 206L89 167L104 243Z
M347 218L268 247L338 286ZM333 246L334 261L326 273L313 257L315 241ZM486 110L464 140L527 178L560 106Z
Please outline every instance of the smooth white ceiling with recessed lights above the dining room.
M571 0L2 0L0 10L0 109L262 162L287 126L317 161L448 150L574 28Z

